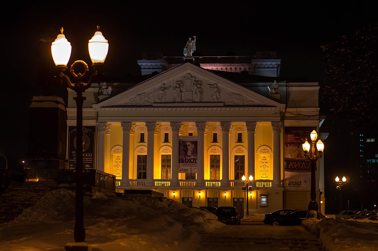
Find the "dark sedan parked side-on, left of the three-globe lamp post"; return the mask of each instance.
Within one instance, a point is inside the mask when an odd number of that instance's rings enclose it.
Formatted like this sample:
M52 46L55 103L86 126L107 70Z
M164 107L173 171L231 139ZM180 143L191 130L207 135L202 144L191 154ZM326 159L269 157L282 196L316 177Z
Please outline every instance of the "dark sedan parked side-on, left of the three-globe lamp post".
M281 209L270 214L265 214L264 223L272 226L278 225L301 225L305 216L292 209Z

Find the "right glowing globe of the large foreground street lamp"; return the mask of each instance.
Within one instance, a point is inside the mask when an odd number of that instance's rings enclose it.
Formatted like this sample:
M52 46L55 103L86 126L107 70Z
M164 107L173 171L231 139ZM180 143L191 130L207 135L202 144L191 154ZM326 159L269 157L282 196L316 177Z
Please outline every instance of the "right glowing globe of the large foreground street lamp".
M88 42L89 56L92 63L104 63L108 49L108 40L105 39L101 31L96 31L95 35Z

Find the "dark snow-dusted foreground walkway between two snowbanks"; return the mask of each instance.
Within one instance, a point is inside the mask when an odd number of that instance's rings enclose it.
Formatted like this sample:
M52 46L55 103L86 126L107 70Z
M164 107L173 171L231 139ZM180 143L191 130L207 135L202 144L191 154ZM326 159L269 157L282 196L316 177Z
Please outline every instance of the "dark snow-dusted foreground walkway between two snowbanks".
M225 225L215 232L202 234L197 251L232 250L304 251L322 250L316 237L302 226L270 226L262 222L242 222L242 225Z

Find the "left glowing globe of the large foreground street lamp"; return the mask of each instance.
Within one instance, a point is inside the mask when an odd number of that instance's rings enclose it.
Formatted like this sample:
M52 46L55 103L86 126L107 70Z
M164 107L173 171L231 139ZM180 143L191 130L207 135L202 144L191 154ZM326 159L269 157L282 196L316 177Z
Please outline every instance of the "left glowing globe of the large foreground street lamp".
M60 31L63 32L63 28ZM51 55L53 55L55 65L67 66L71 57L71 43L67 41L64 34L59 34L51 43Z

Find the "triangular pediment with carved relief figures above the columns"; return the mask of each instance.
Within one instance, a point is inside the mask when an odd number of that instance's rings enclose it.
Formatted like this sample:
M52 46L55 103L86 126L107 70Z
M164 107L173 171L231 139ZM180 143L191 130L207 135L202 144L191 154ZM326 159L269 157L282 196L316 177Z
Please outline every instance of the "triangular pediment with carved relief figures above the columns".
M135 106L268 106L280 104L191 63L162 72L93 108Z

